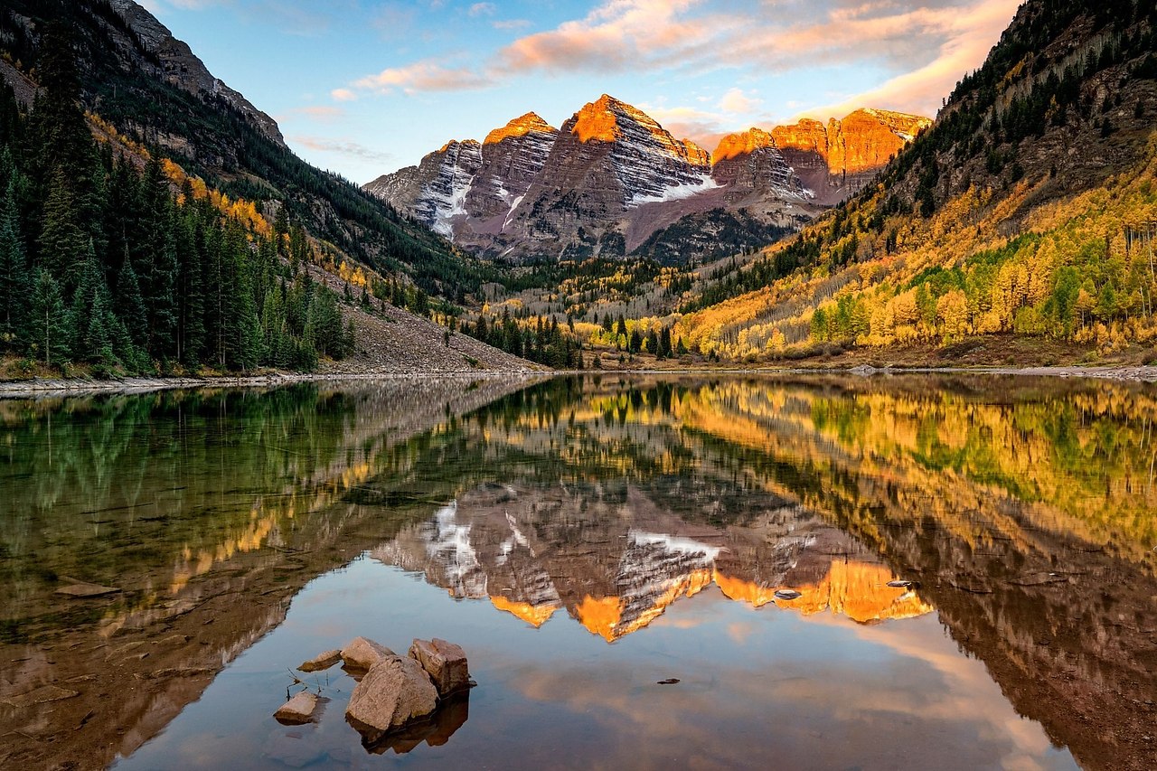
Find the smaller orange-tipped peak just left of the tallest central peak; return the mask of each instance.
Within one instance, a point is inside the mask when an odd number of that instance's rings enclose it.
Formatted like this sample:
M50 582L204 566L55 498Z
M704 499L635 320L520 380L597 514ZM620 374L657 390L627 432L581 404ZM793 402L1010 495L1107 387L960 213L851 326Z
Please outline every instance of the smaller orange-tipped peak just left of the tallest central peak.
M558 128L533 112L487 134L482 141L481 168L466 193L470 216L480 223L501 218L496 229L491 228L501 232L510 212L546 164L558 135Z

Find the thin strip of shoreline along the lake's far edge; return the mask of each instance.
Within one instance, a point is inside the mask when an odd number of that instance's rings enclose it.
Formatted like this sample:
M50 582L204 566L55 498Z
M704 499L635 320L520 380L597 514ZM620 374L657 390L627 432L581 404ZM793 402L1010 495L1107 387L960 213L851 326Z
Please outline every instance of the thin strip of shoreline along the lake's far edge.
M339 383L412 380L533 380L558 375L1015 375L1157 383L1157 366L1048 366L1048 367L687 367L670 369L480 369L364 373L268 373L263 375L124 377L118 380L31 379L0 381L0 398L79 396L87 394L148 394L184 388L265 388L295 383Z

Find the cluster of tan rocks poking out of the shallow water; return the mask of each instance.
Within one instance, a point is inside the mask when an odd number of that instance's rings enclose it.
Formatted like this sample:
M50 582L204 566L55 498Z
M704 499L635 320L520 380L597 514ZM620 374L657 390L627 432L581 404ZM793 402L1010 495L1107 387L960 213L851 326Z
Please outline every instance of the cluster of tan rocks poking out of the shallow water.
M340 651L326 651L297 669L322 671L339 661L358 681L346 720L367 743L432 718L447 698L474 685L465 652L437 638L414 640L407 655L401 656L379 642L358 637ZM319 695L302 691L273 717L288 725L310 722L323 702Z

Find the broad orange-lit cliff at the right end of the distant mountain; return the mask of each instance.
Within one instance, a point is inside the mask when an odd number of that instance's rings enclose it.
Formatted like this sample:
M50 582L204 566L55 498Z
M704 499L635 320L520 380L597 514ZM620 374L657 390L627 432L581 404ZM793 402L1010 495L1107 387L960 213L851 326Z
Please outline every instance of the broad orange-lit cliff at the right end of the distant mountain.
M835 204L855 193L889 159L931 125L928 118L887 110L856 110L825 126L803 119L772 137L817 200Z

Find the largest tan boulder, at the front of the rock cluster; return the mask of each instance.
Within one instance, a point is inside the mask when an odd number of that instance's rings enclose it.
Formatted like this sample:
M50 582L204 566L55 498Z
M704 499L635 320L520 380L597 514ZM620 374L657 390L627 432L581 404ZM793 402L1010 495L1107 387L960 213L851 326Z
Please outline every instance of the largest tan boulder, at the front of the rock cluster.
M349 697L346 719L369 741L425 718L437 706L437 690L413 659L388 656L370 667Z

